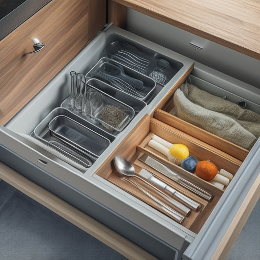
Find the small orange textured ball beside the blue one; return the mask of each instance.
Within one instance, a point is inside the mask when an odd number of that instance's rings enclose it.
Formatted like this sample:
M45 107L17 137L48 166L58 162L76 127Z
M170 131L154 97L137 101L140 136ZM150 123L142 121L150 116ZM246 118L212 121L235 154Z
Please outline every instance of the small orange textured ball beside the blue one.
M218 174L218 168L209 160L201 160L196 165L195 173L201 179L209 181Z

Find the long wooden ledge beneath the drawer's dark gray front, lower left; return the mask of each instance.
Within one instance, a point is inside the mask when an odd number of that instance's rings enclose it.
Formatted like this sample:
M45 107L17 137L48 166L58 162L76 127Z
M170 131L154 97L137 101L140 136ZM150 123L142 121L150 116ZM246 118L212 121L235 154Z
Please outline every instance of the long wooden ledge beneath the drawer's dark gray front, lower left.
M130 260L156 260L136 244L0 162L0 179L70 221Z

